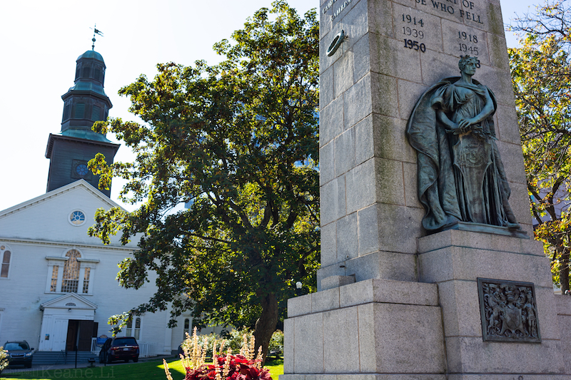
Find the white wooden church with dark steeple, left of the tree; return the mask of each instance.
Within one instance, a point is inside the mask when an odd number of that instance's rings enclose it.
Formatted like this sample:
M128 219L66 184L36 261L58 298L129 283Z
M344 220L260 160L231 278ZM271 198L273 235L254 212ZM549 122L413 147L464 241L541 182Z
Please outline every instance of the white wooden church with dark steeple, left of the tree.
M91 130L105 120L111 101L103 91L105 63L86 51L77 59L74 86L62 96L61 132L50 134L47 192L0 211L0 345L26 340L34 364L63 362L76 349L94 357L97 337L111 337L108 318L148 301L153 278L141 289L123 289L118 263L137 249L118 238L103 245L87 235L99 207L117 206L111 190L98 190L87 162L103 153L113 162L118 144ZM192 326L190 314L167 327L169 313L136 317L120 333L136 337L141 357L171 354Z

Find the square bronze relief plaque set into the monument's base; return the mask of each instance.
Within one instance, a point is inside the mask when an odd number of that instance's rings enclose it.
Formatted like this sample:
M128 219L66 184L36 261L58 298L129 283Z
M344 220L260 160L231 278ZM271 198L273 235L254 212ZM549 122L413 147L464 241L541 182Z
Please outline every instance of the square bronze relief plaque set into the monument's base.
M478 278L477 289L485 342L541 342L532 282Z

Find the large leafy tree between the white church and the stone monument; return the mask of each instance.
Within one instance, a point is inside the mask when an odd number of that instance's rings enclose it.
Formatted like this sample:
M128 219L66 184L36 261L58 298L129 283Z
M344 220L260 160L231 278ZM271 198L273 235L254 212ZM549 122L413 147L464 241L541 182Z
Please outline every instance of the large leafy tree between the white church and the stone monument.
M123 318L192 310L199 325L253 328L265 352L295 282L315 287L320 253L318 21L272 5L216 43L222 63L159 64L153 81L121 88L144 123L94 128L116 133L136 160L90 162L100 187L125 178L121 197L141 202L98 210L90 234L140 237L120 264L123 287L158 274L156 294ZM173 212L181 202L190 207Z

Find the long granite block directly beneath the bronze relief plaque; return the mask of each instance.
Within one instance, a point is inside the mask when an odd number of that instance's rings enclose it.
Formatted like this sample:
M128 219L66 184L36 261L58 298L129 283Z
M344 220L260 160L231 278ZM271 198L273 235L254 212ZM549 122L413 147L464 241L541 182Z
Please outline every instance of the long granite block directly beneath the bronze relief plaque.
M480 337L447 337L448 371L473 374L565 374L560 341L541 344L483 342Z

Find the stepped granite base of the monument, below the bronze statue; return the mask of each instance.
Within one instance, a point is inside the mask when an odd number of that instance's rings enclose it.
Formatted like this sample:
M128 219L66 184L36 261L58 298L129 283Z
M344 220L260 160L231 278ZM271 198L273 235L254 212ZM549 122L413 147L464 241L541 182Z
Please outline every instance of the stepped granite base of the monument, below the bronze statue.
M368 279L290 299L280 379L571 379L565 361L570 344L562 340L569 334L562 337L560 329L571 320L571 297L553 294L550 260L540 242L438 232L418 239L418 276L420 282ZM482 318L478 278L492 279L508 293L512 282L523 284L513 287L517 294L532 284L535 293L527 300L517 296L517 318L505 317L510 310L501 308ZM527 307L535 312L522 311L532 298L535 306ZM540 336L526 342L528 333L520 329L534 315ZM482 329L499 326L482 327L488 319L507 321L513 332L505 335L513 341L485 341Z

